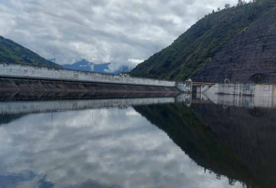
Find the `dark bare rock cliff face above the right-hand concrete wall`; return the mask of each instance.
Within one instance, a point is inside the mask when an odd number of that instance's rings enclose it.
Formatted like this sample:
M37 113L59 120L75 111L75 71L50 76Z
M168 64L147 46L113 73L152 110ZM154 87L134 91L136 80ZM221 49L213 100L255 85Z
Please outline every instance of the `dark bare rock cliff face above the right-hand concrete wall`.
M200 82L276 83L276 9L230 40L193 76Z

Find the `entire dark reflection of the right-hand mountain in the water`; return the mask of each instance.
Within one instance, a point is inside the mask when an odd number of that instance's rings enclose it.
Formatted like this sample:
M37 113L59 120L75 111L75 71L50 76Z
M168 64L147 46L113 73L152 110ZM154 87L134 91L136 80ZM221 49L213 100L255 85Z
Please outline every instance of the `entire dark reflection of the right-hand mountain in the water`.
M276 184L276 111L223 105L136 106L198 165L252 187Z

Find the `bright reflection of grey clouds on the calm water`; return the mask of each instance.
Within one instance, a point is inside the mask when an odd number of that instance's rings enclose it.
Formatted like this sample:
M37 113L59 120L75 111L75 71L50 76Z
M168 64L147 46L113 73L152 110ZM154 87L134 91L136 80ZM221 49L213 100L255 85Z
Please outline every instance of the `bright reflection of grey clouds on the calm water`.
M242 187L204 173L132 107L54 112L51 119L31 114L0 127L0 175L34 173L9 186Z

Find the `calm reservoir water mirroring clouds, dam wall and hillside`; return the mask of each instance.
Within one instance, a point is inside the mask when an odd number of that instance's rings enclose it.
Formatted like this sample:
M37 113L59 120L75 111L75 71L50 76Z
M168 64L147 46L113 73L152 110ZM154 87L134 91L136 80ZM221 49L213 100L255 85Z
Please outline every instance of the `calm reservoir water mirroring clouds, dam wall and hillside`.
M2 101L0 187L276 187L268 101Z

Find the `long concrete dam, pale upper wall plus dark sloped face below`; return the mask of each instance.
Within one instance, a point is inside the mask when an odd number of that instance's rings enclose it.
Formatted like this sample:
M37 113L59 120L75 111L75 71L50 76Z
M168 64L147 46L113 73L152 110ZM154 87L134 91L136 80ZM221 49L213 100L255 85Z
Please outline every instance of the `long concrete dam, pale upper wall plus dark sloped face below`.
M1 90L191 92L191 82L0 62Z

